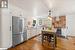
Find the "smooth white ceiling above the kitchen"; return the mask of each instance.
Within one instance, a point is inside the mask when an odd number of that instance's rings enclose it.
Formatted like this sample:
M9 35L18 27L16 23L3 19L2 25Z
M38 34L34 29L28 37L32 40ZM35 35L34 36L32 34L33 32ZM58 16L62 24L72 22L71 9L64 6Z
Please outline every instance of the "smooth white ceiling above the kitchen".
M10 3L34 16L48 15L49 10L53 16L75 12L75 0L10 0Z

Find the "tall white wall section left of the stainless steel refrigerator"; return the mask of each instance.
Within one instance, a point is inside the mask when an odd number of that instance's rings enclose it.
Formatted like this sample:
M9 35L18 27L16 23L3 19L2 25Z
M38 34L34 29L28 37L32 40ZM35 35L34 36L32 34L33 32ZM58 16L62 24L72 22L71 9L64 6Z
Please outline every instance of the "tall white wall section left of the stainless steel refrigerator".
M11 47L10 15L7 8L1 9L1 47Z

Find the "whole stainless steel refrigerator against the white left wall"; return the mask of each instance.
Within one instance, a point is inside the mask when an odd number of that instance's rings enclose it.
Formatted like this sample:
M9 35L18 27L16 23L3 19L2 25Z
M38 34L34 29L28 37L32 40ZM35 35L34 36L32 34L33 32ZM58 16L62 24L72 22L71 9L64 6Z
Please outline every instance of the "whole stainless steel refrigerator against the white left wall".
M12 45L16 46L27 40L27 33L24 30L24 18L12 17Z

